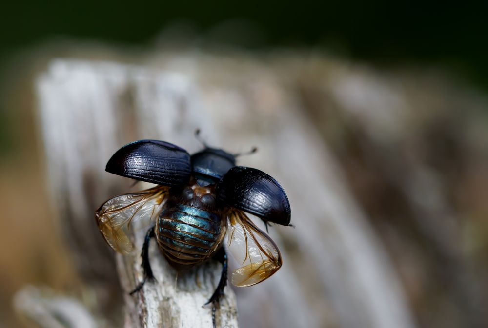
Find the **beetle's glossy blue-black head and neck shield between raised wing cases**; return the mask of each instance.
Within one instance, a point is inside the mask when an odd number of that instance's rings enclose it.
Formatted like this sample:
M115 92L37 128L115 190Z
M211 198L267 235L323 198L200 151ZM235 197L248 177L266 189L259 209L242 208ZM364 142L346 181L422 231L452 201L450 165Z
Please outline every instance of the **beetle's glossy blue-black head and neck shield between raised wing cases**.
M191 165L197 183L208 186L220 181L227 171L236 166L236 155L205 147L203 151L191 155Z

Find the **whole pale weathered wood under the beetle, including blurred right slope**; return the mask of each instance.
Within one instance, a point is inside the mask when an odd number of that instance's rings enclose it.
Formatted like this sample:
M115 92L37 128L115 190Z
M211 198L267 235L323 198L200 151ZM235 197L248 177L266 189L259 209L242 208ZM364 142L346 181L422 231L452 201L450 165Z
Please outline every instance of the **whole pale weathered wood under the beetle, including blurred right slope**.
M64 235L101 298L123 295L125 327L211 327L210 309L201 305L216 286L218 264L176 280L153 245L158 283L129 296L142 279L139 254L117 255L116 275L113 253L93 219L95 208L131 183L103 171L111 154L142 138L192 153L201 147L193 139L196 128L215 147L240 152L258 146L258 154L239 164L271 174L290 198L296 229L270 231L284 266L265 282L236 290L242 328L415 327L385 250L303 114L296 90L280 75L296 63L273 68L249 58L158 58L144 68L56 60L38 81L49 181L56 208L62 206ZM143 233L135 233L136 245ZM227 288L225 294L217 325L237 327L234 293Z

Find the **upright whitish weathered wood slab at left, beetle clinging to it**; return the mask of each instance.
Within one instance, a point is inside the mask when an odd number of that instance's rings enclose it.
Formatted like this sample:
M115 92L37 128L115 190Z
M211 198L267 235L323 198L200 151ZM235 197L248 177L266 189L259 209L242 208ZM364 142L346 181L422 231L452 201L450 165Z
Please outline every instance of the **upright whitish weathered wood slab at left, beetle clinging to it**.
M210 130L210 123L198 119L203 114L193 99L192 82L182 75L152 74L124 65L59 60L41 76L38 89L53 208L61 208L62 232L77 268L98 291L101 303L123 295L127 328L212 327L211 307L202 306L217 286L221 264L206 263L177 279L152 245L157 283L147 283L130 296L142 280L145 231L134 233L137 251L115 257L116 270L114 252L104 244L94 219L103 201L131 191L131 180L104 172L106 161L122 145L152 138L198 147L193 131L197 126ZM237 327L235 296L229 288L217 311L217 324Z

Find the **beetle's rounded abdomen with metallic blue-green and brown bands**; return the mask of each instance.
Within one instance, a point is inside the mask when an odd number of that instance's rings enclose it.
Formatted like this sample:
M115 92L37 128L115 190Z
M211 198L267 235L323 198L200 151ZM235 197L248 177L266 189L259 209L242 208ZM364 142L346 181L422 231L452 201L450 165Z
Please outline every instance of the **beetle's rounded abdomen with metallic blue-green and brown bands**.
M175 204L160 215L157 240L170 264L180 268L204 261L222 241L222 219L203 209Z

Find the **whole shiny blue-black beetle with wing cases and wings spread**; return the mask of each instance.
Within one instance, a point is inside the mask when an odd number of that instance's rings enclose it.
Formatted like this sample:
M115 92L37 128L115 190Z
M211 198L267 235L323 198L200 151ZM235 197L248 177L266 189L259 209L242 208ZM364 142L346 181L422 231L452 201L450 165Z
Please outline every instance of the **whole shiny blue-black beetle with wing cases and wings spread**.
M225 234L227 249L241 264L232 272L232 283L255 285L280 269L282 257L275 242L246 212L263 220L267 231L269 223L290 226L291 211L285 191L274 178L258 169L236 166L239 154L203 145L202 151L192 155L159 140L123 146L105 170L157 186L107 200L96 210L95 218L105 241L121 253L134 249L129 238L131 225L139 221L149 226L141 252L144 278L131 294L154 279L148 256L152 238L178 271L211 258L221 262L219 284L206 303L212 304L215 328L215 312L227 283Z

